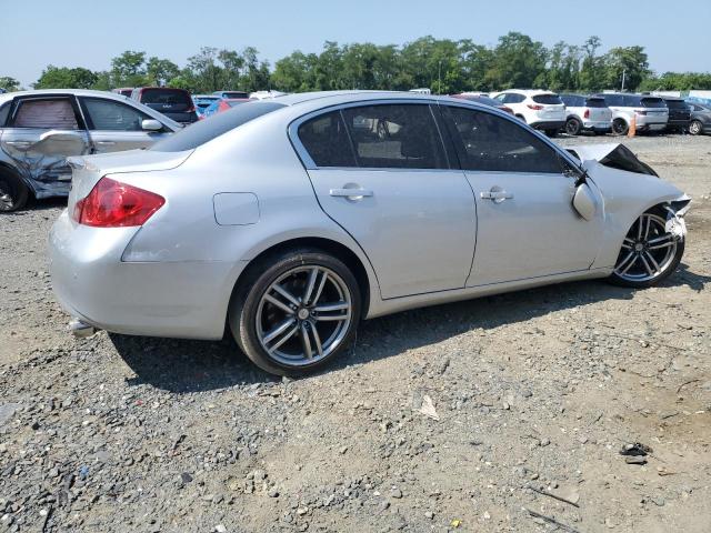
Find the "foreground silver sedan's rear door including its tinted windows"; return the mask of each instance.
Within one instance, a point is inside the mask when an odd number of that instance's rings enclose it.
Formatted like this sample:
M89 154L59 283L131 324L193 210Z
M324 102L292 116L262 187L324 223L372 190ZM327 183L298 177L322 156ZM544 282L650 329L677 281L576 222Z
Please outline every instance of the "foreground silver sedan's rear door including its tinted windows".
M430 105L347 107L306 120L294 137L319 203L363 249L382 298L464 286L475 205Z

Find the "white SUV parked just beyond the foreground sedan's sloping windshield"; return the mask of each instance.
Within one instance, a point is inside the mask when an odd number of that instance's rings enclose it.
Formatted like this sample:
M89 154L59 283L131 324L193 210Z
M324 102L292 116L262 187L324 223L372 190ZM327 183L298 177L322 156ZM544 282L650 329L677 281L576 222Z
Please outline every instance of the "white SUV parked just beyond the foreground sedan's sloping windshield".
M541 90L509 89L493 98L513 110L513 114L531 128L555 137L565 125L565 105L558 94Z

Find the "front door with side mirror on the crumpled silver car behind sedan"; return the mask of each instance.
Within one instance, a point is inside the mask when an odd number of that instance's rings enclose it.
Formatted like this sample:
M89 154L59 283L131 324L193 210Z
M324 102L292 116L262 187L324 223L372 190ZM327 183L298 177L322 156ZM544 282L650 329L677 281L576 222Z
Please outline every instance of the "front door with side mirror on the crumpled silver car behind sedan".
M96 97L80 97L79 101L87 119L92 153L148 148L170 134L167 128L143 130L143 120L152 117L128 103Z

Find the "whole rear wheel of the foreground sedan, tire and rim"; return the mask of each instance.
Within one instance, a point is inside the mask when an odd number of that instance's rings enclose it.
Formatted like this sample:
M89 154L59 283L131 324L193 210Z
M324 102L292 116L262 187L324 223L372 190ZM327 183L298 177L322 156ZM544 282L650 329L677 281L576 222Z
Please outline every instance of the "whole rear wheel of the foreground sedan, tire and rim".
M272 257L251 269L230 305L234 340L262 370L313 372L356 335L361 295L351 270L316 249Z

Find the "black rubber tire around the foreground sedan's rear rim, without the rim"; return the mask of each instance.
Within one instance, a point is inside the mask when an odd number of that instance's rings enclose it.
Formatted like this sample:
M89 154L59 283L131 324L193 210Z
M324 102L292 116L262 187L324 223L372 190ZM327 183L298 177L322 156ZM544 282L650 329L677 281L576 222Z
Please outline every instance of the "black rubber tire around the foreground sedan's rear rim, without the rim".
M262 296L280 276L304 266L319 266L336 273L349 292L350 323L339 344L328 354L314 358L313 363L286 364L270 355L262 346L258 333L258 312ZM313 248L296 249L269 255L250 266L240 281L230 303L228 322L237 344L260 369L277 375L303 375L314 372L343 353L353 341L361 315L361 293L351 270L338 258ZM260 319L261 320L261 319Z

